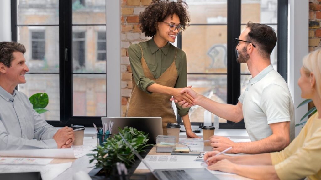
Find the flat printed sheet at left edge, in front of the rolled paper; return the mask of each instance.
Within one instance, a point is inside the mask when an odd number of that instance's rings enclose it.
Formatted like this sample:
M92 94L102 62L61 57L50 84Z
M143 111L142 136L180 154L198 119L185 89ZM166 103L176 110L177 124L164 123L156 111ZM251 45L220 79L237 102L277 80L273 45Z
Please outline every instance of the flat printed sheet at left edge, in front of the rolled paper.
M0 164L46 165L52 160L52 158L0 158Z

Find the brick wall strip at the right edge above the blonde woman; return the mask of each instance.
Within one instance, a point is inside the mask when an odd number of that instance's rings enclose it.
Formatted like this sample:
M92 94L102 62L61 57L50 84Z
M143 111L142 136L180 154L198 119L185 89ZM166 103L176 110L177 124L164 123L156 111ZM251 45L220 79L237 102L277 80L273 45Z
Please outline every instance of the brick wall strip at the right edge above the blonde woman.
M321 0L309 0L309 52L320 47L321 40ZM309 103L309 110L314 107Z

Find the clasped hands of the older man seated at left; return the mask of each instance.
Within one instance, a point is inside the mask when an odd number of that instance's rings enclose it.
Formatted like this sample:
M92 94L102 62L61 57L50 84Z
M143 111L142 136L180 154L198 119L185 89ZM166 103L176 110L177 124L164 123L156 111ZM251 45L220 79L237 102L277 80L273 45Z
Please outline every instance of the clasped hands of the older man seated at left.
M75 140L73 128L65 126L58 129L52 138L56 141L58 149L70 147Z

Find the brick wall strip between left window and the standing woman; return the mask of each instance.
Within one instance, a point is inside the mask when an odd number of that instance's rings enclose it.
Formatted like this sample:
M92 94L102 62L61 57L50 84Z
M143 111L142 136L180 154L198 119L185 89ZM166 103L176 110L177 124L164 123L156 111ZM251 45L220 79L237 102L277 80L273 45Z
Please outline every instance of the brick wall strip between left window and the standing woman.
M127 48L131 44L150 39L139 29L138 15L145 10L151 0L122 0L121 4L121 105L125 116L127 103L132 90L132 70L129 65Z

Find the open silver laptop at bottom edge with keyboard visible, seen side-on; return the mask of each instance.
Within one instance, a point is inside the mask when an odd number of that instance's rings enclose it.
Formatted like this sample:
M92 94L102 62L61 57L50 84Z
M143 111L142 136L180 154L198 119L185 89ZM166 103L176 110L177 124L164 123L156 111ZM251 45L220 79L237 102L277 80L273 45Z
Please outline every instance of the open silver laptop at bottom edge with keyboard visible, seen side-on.
M219 180L216 176L210 173L205 168L190 168L190 169L153 169L143 157L126 141L123 135L119 134L127 146L134 154L145 164L152 172L157 180Z

